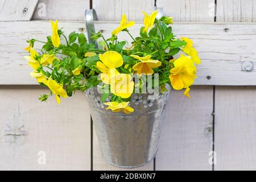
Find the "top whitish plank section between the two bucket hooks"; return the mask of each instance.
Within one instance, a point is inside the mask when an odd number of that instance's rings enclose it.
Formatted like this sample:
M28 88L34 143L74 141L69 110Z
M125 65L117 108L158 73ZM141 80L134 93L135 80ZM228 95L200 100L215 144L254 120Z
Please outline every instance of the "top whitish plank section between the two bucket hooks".
M143 20L146 13L154 11L154 0L93 0L93 9L96 10L98 20L121 20L125 13L128 20Z

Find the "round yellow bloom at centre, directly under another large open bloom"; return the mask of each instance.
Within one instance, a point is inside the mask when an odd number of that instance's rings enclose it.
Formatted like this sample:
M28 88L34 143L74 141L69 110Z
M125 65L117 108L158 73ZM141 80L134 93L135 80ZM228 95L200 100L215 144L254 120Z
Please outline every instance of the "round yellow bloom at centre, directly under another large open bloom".
M110 79L110 91L122 98L129 98L133 93L134 82L133 77L129 74L118 74Z

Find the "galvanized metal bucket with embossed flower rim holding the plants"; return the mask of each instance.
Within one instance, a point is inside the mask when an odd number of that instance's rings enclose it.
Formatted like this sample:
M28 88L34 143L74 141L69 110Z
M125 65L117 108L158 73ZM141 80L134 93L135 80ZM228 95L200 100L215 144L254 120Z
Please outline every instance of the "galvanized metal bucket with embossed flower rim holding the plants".
M169 92L156 100L148 99L150 94L132 94L130 106L135 111L130 114L106 110L97 88L90 88L85 93L106 162L117 167L135 168L154 159Z

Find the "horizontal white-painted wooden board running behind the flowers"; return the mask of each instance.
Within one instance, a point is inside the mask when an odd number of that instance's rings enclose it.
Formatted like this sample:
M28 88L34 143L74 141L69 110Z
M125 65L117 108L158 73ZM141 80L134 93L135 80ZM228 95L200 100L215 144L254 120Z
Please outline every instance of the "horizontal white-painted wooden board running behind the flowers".
M108 38L118 23L96 22L96 31L103 30ZM137 23L129 28L132 35L137 36ZM64 27L68 34L84 28L84 22L61 21L59 27ZM225 29L228 28L228 29ZM224 31L224 30L227 30ZM243 72L244 61L256 64L255 42L256 24L254 23L176 23L174 33L194 40L199 51L202 64L199 65L195 81L196 85L256 85L256 70ZM31 68L23 59L27 52L27 38L45 40L51 35L51 25L48 21L2 22L0 26L0 84L1 85L34 85L29 73ZM119 39L131 41L131 38L121 32ZM40 45L40 44L39 44ZM210 76L210 80L207 79Z

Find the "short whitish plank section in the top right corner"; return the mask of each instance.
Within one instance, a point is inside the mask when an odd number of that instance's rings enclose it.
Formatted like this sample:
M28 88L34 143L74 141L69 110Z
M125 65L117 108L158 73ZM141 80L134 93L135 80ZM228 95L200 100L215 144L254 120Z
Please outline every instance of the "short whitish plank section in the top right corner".
M217 22L256 22L256 1L217 0Z

